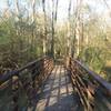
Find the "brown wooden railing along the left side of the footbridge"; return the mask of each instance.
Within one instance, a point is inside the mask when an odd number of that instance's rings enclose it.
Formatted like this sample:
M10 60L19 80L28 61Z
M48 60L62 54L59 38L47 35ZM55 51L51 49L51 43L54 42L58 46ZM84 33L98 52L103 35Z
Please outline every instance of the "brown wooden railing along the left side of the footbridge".
M19 70L0 74L0 111L27 111L34 105L40 85L52 69L53 60L44 57Z

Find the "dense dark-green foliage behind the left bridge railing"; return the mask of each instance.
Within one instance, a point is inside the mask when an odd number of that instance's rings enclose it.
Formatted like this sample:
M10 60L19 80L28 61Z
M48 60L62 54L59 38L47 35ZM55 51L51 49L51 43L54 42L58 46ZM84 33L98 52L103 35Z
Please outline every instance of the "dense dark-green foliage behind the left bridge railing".
M18 69L42 54L36 24L16 22L13 18L0 22L0 73Z

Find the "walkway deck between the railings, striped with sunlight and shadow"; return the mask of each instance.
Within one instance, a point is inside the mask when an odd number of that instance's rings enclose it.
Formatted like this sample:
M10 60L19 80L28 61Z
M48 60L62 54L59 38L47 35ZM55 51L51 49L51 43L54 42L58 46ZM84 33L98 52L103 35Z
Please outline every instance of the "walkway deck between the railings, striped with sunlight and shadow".
M36 111L80 111L78 97L63 65L56 65L42 87Z

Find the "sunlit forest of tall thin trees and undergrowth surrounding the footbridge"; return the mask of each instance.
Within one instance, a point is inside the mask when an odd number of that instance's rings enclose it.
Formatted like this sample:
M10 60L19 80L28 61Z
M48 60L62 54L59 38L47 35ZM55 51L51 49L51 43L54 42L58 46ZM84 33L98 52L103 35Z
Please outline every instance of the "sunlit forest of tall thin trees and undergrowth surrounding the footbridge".
M42 56L69 56L110 82L110 0L0 0L0 74Z

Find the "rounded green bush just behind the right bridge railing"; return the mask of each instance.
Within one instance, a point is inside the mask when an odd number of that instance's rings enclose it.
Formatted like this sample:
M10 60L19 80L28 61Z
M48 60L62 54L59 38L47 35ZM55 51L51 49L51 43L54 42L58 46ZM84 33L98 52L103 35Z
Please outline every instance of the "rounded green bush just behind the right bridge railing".
M99 49L98 47L88 47L80 53L80 58L94 71L100 72L105 63L104 58L101 57L101 54L102 49Z

